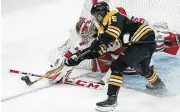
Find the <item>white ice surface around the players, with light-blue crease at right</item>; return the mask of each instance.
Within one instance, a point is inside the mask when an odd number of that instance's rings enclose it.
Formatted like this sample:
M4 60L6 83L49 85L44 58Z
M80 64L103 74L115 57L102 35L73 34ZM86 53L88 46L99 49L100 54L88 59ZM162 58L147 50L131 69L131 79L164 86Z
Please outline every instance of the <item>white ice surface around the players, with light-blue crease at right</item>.
M78 20L84 2L84 0L26 1L2 1L1 100L49 85L48 81L44 80L28 87L20 80L19 75L8 74L8 69L45 73L49 69L49 50L68 38L69 28ZM154 60L160 74L170 75L169 88L177 94L160 98L121 88L118 97L119 112L180 111L180 55L157 54ZM164 80L168 82L166 78ZM106 91L60 84L1 102L1 110L2 112L95 112L95 103L106 98Z

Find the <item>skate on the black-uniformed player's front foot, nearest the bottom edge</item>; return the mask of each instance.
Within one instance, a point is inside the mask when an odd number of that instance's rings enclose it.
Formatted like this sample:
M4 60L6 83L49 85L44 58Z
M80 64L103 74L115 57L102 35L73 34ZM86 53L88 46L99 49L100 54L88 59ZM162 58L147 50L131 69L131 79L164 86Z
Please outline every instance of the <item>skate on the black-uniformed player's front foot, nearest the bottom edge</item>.
M105 101L96 103L99 112L115 112L117 107L117 96L108 96Z

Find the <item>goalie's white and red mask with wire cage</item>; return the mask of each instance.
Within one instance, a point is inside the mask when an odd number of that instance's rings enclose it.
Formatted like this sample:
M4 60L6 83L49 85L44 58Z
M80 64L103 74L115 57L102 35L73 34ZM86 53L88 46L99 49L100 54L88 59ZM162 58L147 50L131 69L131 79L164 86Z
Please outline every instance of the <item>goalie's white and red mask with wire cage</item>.
M82 38L85 43L88 43L90 39L93 38L97 33L97 30L92 21L81 17L76 24L76 33Z

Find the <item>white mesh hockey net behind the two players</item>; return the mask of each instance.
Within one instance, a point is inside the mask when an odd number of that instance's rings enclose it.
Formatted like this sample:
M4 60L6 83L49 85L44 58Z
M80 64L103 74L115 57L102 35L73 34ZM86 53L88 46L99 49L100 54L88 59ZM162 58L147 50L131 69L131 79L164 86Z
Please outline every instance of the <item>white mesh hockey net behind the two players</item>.
M94 3L105 1L110 9L123 7L133 16L145 18L150 23L167 23L168 28L180 32L180 0L85 0L81 17L91 18L90 9ZM71 31L70 36L75 36ZM77 68L91 69L91 61L84 61Z

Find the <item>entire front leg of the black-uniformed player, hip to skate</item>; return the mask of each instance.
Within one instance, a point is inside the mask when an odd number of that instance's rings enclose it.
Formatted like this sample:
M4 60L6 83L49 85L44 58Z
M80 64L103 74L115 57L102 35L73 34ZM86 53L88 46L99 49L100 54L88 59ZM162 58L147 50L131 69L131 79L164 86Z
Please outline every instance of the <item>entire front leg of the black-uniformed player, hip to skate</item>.
M132 46L121 54L117 60L111 64L111 74L108 83L108 98L105 101L98 102L97 107L101 109L112 109L117 105L117 95L121 87L122 73L127 67L136 69L140 62L150 56L146 46Z

